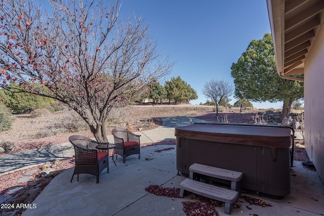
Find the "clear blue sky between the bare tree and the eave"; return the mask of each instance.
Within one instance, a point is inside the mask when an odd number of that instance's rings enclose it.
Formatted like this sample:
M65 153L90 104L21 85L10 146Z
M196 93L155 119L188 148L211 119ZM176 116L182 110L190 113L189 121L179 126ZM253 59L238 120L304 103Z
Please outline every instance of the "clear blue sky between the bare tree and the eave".
M198 95L192 104L206 102L201 89L210 79L233 84L232 63L253 39L271 33L265 0L124 0L122 13L130 9L149 23L159 49L168 53L171 61L178 61L166 80L179 75L190 84ZM253 105L280 108L282 102Z

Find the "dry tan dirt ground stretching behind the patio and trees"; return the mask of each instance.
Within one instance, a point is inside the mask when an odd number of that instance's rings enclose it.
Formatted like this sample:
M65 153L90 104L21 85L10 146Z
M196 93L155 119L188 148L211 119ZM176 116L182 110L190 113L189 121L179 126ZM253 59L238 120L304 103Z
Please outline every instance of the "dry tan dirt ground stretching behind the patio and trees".
M280 112L276 110L244 109L219 107L218 119L215 107L201 105L130 105L112 110L111 118L106 126L107 135L116 127L129 128L131 131L147 130L162 124L160 117L191 116L211 122L254 124L255 118L263 119L268 124L280 124ZM80 117L69 109L54 113L38 110L30 114L13 115L12 129L0 132L0 143L14 143L15 148L6 153L24 151L48 145L68 142L74 134L93 137L88 126Z

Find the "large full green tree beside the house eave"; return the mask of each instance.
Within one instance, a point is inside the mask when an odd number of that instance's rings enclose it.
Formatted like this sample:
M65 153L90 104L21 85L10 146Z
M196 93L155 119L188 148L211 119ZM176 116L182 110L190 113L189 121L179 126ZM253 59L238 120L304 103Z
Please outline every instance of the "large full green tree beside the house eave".
M292 103L304 96L304 83L280 78L276 71L271 34L252 40L231 66L235 96L256 102L284 101L281 119L288 116Z

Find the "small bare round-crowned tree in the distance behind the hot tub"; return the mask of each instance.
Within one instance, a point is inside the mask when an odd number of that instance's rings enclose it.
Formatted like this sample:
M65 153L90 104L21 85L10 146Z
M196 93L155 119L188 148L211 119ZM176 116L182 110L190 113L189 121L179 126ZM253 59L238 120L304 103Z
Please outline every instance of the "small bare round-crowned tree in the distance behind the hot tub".
M212 79L205 82L201 90L203 95L216 103L216 118L218 117L218 105L225 97L230 97L233 93L233 86L222 79Z

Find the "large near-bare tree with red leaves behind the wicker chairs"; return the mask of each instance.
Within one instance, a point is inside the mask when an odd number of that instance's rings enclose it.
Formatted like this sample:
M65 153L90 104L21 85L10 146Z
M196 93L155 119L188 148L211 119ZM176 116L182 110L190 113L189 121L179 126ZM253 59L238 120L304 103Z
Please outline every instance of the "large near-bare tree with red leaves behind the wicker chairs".
M174 63L157 50L140 17L120 16L118 0L47 4L49 13L36 1L0 4L0 87L17 82L25 92L67 104L98 141L107 141L111 108L170 73Z

